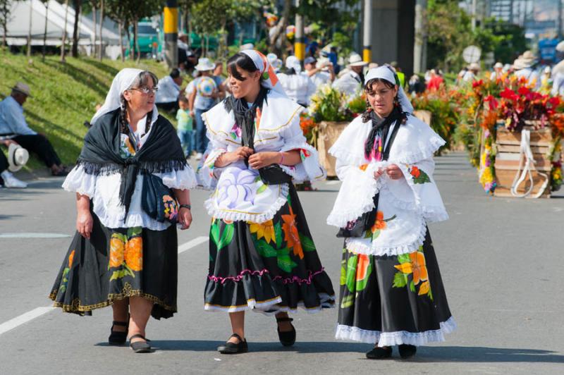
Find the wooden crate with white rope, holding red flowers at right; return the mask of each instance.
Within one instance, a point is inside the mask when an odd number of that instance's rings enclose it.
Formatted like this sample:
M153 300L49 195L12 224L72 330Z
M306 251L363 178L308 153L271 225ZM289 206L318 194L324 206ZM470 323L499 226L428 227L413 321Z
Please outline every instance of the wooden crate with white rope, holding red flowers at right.
M537 171L532 171L533 190L529 197L536 195L544 183L544 177L539 175L539 172L544 173L550 178L551 176L551 161L548 160L548 152L552 145L553 139L550 129L531 130L531 151L534 156L536 164L534 167ZM497 187L494 191L496 197L513 197L511 195L511 185L517 174L520 164L520 145L521 145L521 132L510 132L505 128L498 128L496 137L496 180ZM525 156L522 156L523 158ZM527 173L528 175L528 173ZM529 189L530 182L527 179L521 183L517 192L520 194L525 193ZM541 198L549 198L551 196L550 180Z

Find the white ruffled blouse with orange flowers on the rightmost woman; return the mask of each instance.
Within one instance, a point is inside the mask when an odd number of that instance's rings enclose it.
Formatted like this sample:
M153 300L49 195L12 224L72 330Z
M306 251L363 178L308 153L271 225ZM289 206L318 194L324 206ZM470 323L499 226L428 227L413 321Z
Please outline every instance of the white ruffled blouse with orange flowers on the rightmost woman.
M433 154L445 142L429 125L408 116L398 129L388 161L368 161L364 142L371 128L372 123L363 123L359 116L329 149L337 159L336 172L343 183L327 223L345 228L374 209L372 197L379 192L372 233L367 238L347 238L345 246L361 254L413 252L423 245L427 222L448 219L433 179ZM388 164L398 165L405 178L392 180L384 173L374 179L374 171Z

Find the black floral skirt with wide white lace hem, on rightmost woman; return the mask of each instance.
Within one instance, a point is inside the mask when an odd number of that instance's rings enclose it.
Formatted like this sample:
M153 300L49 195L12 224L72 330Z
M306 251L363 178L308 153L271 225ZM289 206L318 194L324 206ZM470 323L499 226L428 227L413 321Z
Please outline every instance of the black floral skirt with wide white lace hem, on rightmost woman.
M429 230L423 245L407 254L343 250L336 338L424 345L443 341L455 327Z

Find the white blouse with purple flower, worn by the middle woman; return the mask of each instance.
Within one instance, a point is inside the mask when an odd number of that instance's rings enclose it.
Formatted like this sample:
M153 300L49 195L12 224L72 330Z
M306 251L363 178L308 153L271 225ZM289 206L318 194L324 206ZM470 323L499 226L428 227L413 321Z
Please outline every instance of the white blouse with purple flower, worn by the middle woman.
M269 92L262 111L255 118L255 152L286 152L299 149L302 162L281 166L295 182L325 177L319 165L317 150L308 145L300 128L302 106L288 97ZM241 145L241 134L233 113L223 102L202 115L207 126L209 145L197 170L200 186L214 190L204 203L208 214L216 219L263 223L287 202L288 184L266 185L259 172L243 161L217 168L216 159Z

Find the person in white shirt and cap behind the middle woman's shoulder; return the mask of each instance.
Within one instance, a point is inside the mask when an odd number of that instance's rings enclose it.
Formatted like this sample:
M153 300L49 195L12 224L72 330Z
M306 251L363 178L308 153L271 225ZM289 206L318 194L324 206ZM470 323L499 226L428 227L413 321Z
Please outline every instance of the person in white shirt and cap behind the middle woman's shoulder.
M300 60L296 56L286 58L286 72L277 74L286 95L301 106L309 105L309 98L316 87L307 74L302 73Z

